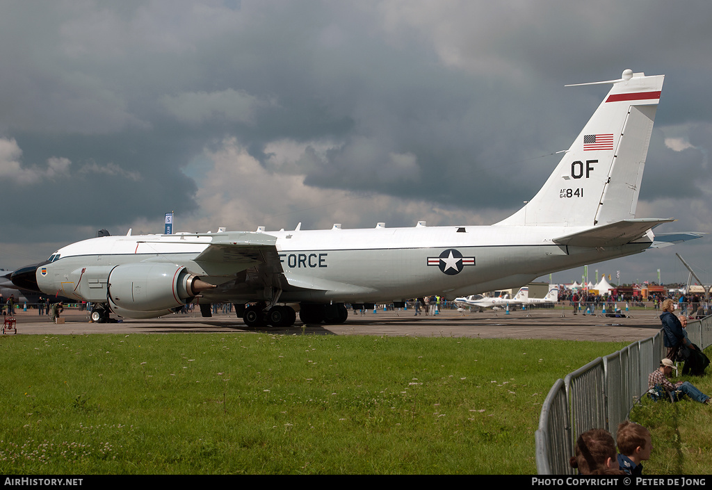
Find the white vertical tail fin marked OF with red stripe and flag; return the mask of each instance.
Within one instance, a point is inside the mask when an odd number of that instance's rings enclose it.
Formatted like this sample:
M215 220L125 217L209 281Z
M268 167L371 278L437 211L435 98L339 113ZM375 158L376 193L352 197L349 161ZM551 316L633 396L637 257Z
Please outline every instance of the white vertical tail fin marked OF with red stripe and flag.
M594 226L635 217L664 75L623 72L553 174L497 224ZM587 84L582 84L587 85Z

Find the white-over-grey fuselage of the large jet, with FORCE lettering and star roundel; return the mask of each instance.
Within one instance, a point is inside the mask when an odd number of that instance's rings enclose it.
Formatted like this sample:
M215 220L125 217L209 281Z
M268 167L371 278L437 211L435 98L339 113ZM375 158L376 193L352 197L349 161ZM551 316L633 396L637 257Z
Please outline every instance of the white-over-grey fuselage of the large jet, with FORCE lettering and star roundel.
M636 254L651 241L607 249L563 246L552 238L579 231L561 226L417 226L414 228L269 231L275 237L286 284L280 302L404 301L439 293L491 291L528 283L552 271ZM211 301L254 301L264 286L250 270L216 275L194 259L230 232L201 235L105 236L58 251L38 267L41 290L105 301L110 271L121 264L182 264L218 285ZM244 235L244 234L242 234ZM180 243L182 242L182 243ZM82 271L82 269L85 269ZM239 276L239 280L235 278Z

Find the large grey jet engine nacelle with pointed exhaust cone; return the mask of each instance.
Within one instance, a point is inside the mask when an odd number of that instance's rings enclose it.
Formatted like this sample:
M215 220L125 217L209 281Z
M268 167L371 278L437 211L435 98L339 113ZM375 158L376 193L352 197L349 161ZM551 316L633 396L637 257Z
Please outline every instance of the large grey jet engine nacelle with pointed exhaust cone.
M167 263L123 264L109 273L111 310L128 318L155 318L183 306L199 291L213 287L184 266Z

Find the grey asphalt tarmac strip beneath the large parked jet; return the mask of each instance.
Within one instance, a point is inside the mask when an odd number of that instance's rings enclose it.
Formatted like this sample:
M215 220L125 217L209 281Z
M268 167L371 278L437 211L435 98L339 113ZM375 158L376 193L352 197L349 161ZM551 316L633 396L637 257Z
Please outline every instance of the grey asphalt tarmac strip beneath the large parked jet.
M628 318L573 315L571 308L538 311L446 310L436 316L407 311L366 311L353 314L341 325L302 325L290 328L248 328L234 313L202 318L199 312L172 314L149 320L126 319L117 323L89 323L87 312L65 310L66 323L56 325L37 310L18 311L17 335L85 335L93 333L275 333L281 335L410 335L415 337L538 338L562 340L642 340L661 328L654 309L628 313ZM12 334L9 334L12 335Z

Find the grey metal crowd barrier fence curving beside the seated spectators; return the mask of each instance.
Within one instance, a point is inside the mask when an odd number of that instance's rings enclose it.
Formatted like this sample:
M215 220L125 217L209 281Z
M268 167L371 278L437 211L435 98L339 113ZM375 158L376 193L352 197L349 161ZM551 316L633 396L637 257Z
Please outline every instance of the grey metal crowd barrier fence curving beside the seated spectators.
M700 348L712 343L712 316L691 320L688 336ZM648 390L648 375L665 355L663 330L557 380L539 416L535 432L538 474L574 474L569 458L577 437L590 429L612 434Z

